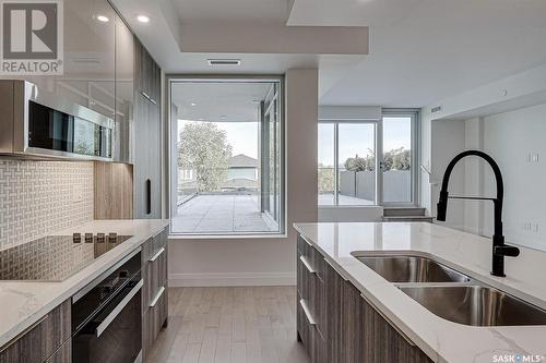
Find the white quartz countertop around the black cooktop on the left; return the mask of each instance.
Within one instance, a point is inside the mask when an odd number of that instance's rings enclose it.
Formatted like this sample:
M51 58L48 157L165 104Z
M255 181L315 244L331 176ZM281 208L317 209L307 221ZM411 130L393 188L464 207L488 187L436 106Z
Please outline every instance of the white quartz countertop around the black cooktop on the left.
M73 232L116 232L132 238L61 282L0 281L0 347L38 322L167 225L167 220L159 219L95 220L49 233L72 235Z

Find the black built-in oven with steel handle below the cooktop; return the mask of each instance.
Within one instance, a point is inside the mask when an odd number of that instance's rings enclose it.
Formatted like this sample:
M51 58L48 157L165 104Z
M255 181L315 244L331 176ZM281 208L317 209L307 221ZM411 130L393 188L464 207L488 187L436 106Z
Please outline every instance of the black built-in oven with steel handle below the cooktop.
M72 362L142 359L140 250L72 297Z

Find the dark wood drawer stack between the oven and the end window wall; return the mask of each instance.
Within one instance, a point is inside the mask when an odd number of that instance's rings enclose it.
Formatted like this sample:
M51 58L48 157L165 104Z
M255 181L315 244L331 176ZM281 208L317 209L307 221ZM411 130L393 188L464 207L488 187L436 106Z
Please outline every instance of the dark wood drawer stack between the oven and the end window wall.
M168 319L167 229L142 245L142 354L147 356Z

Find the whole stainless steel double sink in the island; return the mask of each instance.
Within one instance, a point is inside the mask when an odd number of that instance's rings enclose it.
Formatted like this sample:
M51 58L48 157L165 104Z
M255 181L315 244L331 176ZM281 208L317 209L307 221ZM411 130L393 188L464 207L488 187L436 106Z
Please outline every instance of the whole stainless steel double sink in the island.
M353 256L444 319L471 326L546 325L545 310L431 258L357 252Z

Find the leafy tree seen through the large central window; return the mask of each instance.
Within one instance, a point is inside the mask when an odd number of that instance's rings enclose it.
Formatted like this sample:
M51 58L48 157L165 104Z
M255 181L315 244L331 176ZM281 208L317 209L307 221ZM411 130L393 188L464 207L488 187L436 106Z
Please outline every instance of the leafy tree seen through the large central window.
M178 167L195 172L198 191L219 190L227 177L232 145L225 131L212 122L189 122L180 132Z

